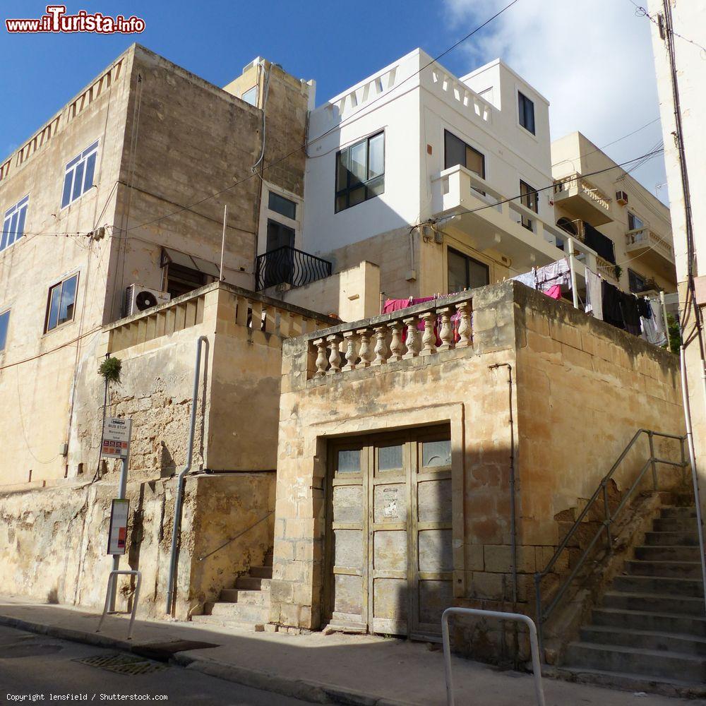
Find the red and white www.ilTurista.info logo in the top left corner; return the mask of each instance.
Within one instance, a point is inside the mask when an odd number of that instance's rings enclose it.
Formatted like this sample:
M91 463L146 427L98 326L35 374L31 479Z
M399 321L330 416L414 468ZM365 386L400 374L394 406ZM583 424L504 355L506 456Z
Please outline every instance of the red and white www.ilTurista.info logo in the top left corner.
M5 20L8 32L98 32L103 35L135 34L145 30L145 20L136 17L108 17L100 12L80 10L66 14L66 5L47 5L47 14L35 19Z

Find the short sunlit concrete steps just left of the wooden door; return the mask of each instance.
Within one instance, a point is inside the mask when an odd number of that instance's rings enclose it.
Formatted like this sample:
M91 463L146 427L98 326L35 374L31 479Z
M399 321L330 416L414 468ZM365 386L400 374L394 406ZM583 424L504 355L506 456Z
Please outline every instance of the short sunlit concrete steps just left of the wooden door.
M220 599L203 606L203 615L192 616L194 623L208 623L225 628L261 632L270 622L270 581L272 552L265 555L263 566L251 566L240 576L234 588L224 588Z

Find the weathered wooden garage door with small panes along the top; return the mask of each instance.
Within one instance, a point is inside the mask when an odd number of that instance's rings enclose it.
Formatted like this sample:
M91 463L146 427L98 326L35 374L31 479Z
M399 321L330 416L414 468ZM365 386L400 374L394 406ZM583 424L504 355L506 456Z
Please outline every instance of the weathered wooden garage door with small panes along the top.
M331 624L438 639L453 604L448 426L335 441L328 457Z

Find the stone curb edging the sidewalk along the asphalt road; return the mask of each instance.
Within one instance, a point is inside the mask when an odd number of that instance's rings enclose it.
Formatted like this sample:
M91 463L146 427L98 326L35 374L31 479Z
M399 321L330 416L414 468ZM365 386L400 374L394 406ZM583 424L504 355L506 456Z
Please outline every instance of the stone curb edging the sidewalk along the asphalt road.
M17 630L26 630L29 633L37 633L38 635L48 635L50 638L82 642L85 645L95 645L96 647L110 647L123 652L134 652L133 647L138 647L139 645L139 643L128 642L127 640L110 638L101 633L88 633L85 630L72 630L71 628L56 628L43 623L33 623L21 618L11 618L4 615L0 615L0 625L16 628ZM290 696L311 703L333 703L344 706L410 706L412 704L409 701L390 700L347 690L333 684L285 678L271 672L247 669L246 667L219 662L208 657L193 657L187 652L177 652L169 659L169 664L175 664L185 669L193 669L202 674L214 676L225 681L232 681L242 686Z

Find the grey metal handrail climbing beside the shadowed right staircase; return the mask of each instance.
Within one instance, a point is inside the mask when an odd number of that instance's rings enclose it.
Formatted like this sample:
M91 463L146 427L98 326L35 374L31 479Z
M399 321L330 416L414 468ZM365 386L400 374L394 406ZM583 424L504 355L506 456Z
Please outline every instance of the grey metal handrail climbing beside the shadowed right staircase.
M638 438L640 438L642 436L642 434L647 434L647 438L648 438L648 441L650 444L650 457L647 459L647 461L645 461L645 464L640 469L640 472L638 473L637 477L635 478L633 483L630 485L628 490L623 494L623 498L621 498L621 502L618 504L618 507L616 508L615 512L611 513L610 505L609 505L609 501L608 501L609 481L611 481L616 470L621 465L621 462L623 462L623 459L626 457L626 455L628 455L628 452L630 451L631 448L633 448L635 443L638 441ZM670 461L670 460L666 460L664 458L656 457L654 455L654 437L655 436L659 436L661 438L675 439L676 441L678 441L680 448L681 448L681 461L680 462ZM547 563L547 565L544 567L544 570L538 571L537 573L534 574L535 600L536 600L536 609L537 609L537 616L536 616L537 617L537 632L539 634L540 647L542 646L542 628L544 626L544 623L549 618L552 611L554 611L554 609L556 608L558 603L561 601L563 595L568 590L568 587L571 585L573 580L576 578L576 575L579 573L579 571L582 568L582 566L584 565L586 559L591 554L593 547L595 546L596 542L598 541L601 534L603 534L603 532L606 533L606 549L609 552L613 551L613 535L611 533L611 525L613 525L613 523L616 520L616 517L621 513L623 508L628 503L628 500L633 495L633 492L635 491L635 489L642 482L642 478L645 476L647 469L650 467L652 468L652 484L654 485L654 489L657 490L657 464L658 463L664 463L666 465L676 466L679 468L685 468L688 465L688 463L686 462L686 454L684 451L684 441L686 441L685 436L676 436L675 434L666 434L666 433L662 433L660 431L652 431L650 429L638 429L638 431L635 432L635 436L633 436L633 438L630 439L630 443L628 443L626 448L623 449L621 455L618 456L618 459L616 460L616 462L613 464L613 466L611 467L609 472L606 474L606 476L602 479L602 481L600 482L596 491L593 493L590 500L586 503L585 508L583 508L580 515L577 517L577 519L575 520L575 522L571 526L570 530L566 533L565 537L561 541L561 544L559 544L556 551L554 552L554 556L551 557L551 559L549 560L549 563ZM599 527L597 532L594 534L593 538L589 542L585 551L580 556L579 560L577 561L576 565L574 566L572 572L568 575L568 578L566 578L566 580L564 580L563 584L557 590L557 592L554 595L554 598L552 599L549 606L547 606L546 609L543 609L542 608L542 579L547 574L549 574L549 572L552 570L552 568L554 568L554 565L558 561L559 556L561 556L564 549L566 549L566 547L568 546L568 543L569 543L569 540L571 539L571 537L573 537L573 535L576 532L578 532L578 529L581 526L581 523L582 523L584 517L586 517L586 515L589 513L589 510L594 506L594 503L597 502L599 496L603 497L604 520L602 522L602 527Z

